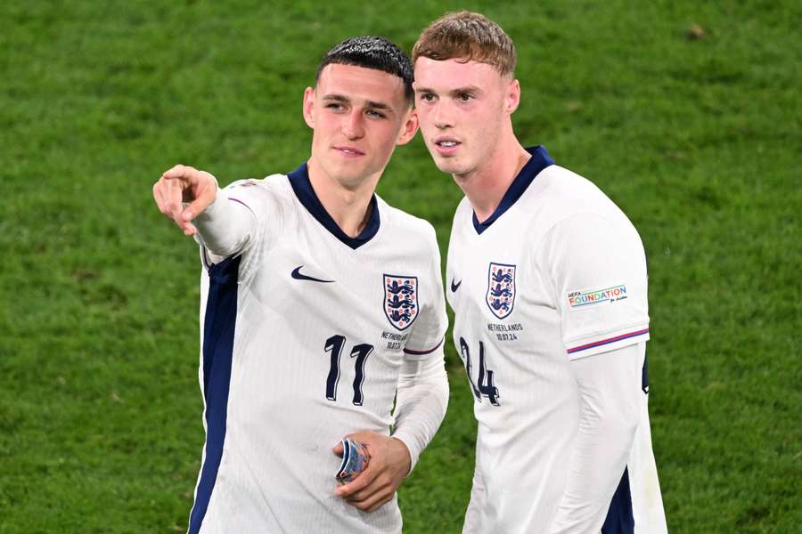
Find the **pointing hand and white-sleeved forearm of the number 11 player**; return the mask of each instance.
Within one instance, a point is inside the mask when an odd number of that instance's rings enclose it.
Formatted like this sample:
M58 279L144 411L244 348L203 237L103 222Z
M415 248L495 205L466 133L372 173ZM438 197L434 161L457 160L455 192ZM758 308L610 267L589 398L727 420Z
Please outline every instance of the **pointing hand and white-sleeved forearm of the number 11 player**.
M162 214L213 255L236 255L253 235L256 217L250 208L227 198L205 171L174 166L153 185L153 198Z

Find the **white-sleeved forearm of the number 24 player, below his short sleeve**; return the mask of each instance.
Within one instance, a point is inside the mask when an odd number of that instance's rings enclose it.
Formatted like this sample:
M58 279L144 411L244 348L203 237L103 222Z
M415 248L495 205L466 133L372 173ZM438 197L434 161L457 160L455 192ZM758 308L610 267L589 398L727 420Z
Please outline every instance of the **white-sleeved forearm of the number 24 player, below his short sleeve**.
M638 423L639 351L573 360L581 412L569 473L550 534L598 534L624 473Z

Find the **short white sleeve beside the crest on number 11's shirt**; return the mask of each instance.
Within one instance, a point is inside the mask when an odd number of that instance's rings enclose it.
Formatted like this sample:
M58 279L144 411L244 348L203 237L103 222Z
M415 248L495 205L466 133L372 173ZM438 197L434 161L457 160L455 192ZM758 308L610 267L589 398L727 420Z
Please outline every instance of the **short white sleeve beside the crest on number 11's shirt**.
M446 315L446 297L443 294L443 279L440 273L440 250L435 231L428 225L427 236L430 255L429 269L426 272L426 283L421 284L421 312L413 323L413 330L404 345L408 358L426 358L436 352L443 344L448 328ZM425 292L425 293L422 293Z

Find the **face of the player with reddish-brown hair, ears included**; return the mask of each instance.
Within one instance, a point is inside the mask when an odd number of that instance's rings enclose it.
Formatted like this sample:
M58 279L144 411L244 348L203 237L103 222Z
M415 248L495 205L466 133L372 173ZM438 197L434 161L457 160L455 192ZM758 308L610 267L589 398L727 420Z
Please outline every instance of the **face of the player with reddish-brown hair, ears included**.
M511 133L518 108L518 80L487 63L415 61L415 108L421 133L444 173L469 176L492 166L495 150Z

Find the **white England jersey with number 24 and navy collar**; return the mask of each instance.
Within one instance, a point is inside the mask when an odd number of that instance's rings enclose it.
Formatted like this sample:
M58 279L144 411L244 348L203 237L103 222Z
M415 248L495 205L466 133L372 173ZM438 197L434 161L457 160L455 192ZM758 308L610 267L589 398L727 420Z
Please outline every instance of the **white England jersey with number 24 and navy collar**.
M633 225L543 147L528 150L532 158L487 221L462 199L448 247L454 344L479 422L484 492L479 517L470 518L479 532L547 531L579 422L570 360L645 347L649 338L646 259ZM642 420L609 517L653 534L666 523L641 354Z

